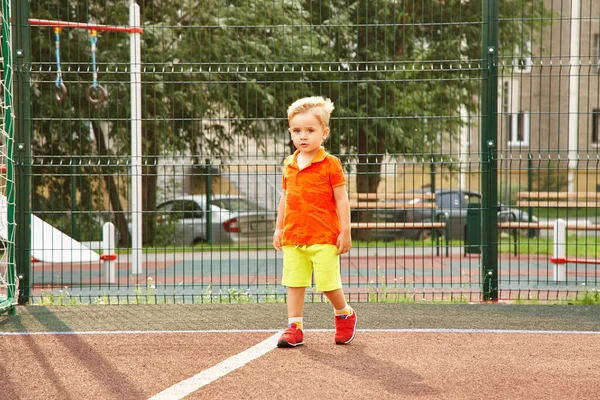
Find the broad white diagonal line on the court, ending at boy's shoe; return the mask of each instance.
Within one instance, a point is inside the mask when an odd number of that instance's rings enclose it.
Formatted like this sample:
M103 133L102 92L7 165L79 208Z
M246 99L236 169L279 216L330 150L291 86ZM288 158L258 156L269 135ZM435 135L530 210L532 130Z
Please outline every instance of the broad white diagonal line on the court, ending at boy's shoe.
M184 398L190 393L193 393L203 386L208 385L212 381L215 381L228 373L235 371L238 368L243 367L251 361L267 354L269 351L277 347L277 339L283 331L277 332L275 335L270 336L268 339L263 340L259 344L250 347L247 350L242 351L227 360L221 361L209 369L205 369L188 378L181 381L170 388L163 390L162 392L152 396L150 400L179 400Z

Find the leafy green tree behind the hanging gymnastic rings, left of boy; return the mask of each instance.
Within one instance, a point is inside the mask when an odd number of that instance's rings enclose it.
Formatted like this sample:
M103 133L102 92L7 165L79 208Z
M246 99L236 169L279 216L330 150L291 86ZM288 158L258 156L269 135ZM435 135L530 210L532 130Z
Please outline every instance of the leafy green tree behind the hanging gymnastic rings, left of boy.
M248 138L261 145L265 132L284 132L285 118L281 116L285 107L311 90L302 81L290 85L291 71L285 65L300 65L289 60L309 63L320 54L315 50L319 38L309 30L293 31L295 21L306 19L307 13L291 0L275 2L266 9L225 0L211 1L208 6L194 0L142 1L140 6L144 28L143 211L152 211L159 157L180 154L198 160L227 159L239 150L236 139L242 139L241 146ZM127 24L128 9L120 2L96 2L87 7L85 2L43 0L32 14L52 20ZM33 74L33 109L34 115L40 116L34 124L33 153L40 160L64 160L79 154L81 159L100 161L85 167L79 177L85 182L77 186L74 175L57 176L56 163L36 164L36 208L52 204L58 210L99 209L100 205L84 202L101 199L99 192L105 188L112 210L121 218L117 224L121 245L126 245L129 233L121 211L127 185L117 177L128 173L128 37L99 34L98 69L109 98L92 106L84 95L91 83L89 33L65 29L61 36L61 58L68 60L70 71L63 71L69 93L57 103L53 99L56 69L50 67L54 37L49 28L33 32L34 64L43 66ZM292 76L297 78L295 73ZM57 137L59 131L63 134ZM92 189L95 195L86 192ZM154 240L155 224L153 213L145 215L148 243Z

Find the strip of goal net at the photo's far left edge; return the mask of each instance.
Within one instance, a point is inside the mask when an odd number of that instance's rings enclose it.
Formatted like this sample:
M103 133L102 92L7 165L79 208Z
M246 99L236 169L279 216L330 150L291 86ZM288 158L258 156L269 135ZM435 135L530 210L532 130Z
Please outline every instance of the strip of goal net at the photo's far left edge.
M17 303L17 274L14 257L13 180L13 65L10 0L0 0L0 313L13 311Z

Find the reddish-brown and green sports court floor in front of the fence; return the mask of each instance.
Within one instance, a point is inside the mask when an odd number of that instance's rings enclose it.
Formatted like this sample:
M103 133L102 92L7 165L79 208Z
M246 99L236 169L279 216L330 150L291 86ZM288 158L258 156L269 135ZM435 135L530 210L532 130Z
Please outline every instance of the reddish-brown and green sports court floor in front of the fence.
M597 399L600 307L357 303L333 343L307 304L305 345L278 349L285 304L19 307L0 315L5 399Z

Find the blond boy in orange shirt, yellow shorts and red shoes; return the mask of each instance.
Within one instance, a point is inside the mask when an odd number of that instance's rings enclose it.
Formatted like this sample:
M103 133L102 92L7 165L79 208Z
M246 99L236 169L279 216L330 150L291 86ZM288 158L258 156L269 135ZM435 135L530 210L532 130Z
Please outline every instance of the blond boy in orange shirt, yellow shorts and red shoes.
M316 290L335 309L335 343L354 339L356 313L346 303L339 255L352 247L350 204L340 160L321 146L329 136L333 103L306 97L287 110L296 152L284 162L273 246L283 250L282 284L288 287L288 327L278 347L304 344L302 311L314 272Z

